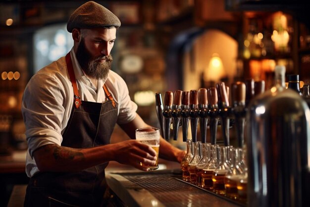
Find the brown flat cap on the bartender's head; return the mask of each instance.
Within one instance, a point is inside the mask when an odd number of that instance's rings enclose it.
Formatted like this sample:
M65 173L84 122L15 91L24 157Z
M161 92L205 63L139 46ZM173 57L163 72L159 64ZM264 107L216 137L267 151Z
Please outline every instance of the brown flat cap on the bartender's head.
M68 32L74 28L120 26L120 20L110 10L95 1L88 1L78 7L69 17Z

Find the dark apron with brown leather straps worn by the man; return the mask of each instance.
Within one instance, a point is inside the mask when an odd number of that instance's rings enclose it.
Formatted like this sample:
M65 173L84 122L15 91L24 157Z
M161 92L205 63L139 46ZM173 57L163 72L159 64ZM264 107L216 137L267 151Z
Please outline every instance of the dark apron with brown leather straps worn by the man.
M74 103L61 146L89 148L108 144L117 120L113 98L103 86L109 100L104 103L81 101L70 53L66 55L66 64L74 90ZM107 164L78 172L39 172L30 179L25 207L101 206Z

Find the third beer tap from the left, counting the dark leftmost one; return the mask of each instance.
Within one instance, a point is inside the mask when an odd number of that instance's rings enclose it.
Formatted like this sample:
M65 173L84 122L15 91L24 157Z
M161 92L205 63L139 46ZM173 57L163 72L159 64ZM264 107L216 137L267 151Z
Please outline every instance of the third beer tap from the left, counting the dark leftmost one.
M179 135L179 126L181 121L181 96L182 96L181 90L176 90L174 92L172 112L171 112L173 119L172 122L173 140L178 140Z

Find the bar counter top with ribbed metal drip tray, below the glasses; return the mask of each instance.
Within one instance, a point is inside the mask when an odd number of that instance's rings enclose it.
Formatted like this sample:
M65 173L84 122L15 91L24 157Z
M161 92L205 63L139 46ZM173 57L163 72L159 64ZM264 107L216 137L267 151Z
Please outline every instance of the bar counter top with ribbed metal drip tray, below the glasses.
M128 207L245 207L182 181L180 170L110 172L107 184Z

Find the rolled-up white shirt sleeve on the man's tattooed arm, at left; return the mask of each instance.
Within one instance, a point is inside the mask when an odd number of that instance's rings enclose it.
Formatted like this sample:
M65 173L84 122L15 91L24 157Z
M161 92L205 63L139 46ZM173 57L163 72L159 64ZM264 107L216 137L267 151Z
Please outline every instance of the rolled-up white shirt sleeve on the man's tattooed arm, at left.
M27 84L22 103L22 115L31 157L41 146L61 145L64 97L61 82L50 74L37 74Z

